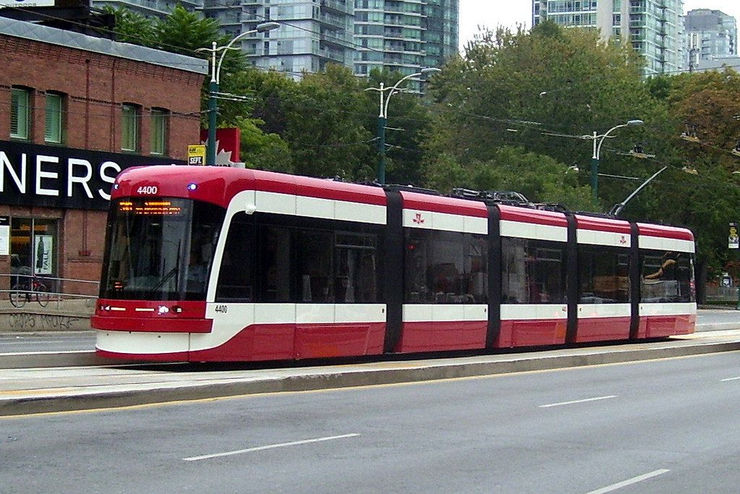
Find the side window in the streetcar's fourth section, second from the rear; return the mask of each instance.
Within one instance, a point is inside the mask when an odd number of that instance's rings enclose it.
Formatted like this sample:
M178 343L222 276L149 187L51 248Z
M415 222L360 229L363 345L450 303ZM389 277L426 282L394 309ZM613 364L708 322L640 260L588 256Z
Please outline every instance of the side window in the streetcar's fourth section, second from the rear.
M630 301L628 249L578 246L578 301L582 304Z

